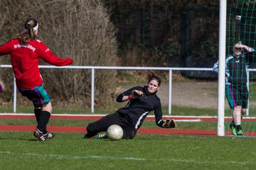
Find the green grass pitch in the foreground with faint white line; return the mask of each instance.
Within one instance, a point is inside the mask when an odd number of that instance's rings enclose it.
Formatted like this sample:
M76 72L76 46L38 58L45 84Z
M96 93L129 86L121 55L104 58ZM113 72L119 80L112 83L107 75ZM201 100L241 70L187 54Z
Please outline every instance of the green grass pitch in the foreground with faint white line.
M82 139L58 132L0 132L1 169L255 169L255 137L137 134L133 140Z

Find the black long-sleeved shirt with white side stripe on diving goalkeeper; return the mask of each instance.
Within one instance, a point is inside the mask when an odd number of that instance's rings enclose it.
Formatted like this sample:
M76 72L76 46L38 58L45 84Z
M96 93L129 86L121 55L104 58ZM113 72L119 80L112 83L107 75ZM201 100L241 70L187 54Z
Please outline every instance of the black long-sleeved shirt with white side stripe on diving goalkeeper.
M151 111L154 111L156 125L162 128L164 124L164 120L162 119L162 111L161 111L161 101L156 93L149 94L147 91L147 86L135 86L132 89L124 91L124 93L119 94L117 96L117 102L122 102L123 96L129 96L133 90L139 90L143 92L143 96L141 98L134 98L127 103L127 106L124 108L119 108L117 111L119 114L124 114L125 117L129 118L132 126L135 129L138 129L144 119Z

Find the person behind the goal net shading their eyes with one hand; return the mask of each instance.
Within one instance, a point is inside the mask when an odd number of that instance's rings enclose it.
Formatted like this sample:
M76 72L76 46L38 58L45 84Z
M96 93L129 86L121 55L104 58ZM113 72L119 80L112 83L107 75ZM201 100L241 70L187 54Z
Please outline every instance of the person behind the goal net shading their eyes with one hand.
M246 113L248 100L247 68L253 59L249 55L255 50L238 42L234 45L233 52L225 60L225 95L233 109L233 121L230 124L232 134L241 136L241 118ZM218 62L214 64L213 71L218 73Z

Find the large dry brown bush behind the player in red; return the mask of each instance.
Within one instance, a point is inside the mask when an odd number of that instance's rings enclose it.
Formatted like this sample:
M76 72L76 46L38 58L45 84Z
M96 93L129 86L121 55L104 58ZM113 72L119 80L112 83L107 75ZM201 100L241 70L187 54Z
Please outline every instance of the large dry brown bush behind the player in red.
M57 56L74 60L73 65L114 66L117 65L116 29L110 21L110 14L100 0L60 1L0 1L0 43L15 38L23 31L27 18L39 22L39 39L48 45ZM15 6L15 8L14 8ZM18 10L17 10L18 9ZM1 64L11 64L10 57L1 57ZM40 64L47 64L41 61ZM1 94L1 104L12 101L13 73L1 70L8 85ZM110 100L115 81L115 71L95 72L95 103L104 105ZM82 69L41 69L53 106L90 106L91 71ZM114 88L114 87L113 87ZM105 96L102 98L102 96ZM31 102L18 95L18 105Z

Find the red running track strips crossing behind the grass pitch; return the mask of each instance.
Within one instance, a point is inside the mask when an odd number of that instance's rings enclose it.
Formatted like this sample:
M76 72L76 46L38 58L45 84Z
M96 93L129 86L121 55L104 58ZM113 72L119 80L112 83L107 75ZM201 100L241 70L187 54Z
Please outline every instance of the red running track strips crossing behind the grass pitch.
M72 120L98 120L102 115L52 115L50 119L72 119ZM1 119L35 119L34 115L21 115L21 114L0 114ZM199 117L169 117L175 118L177 121L217 121L217 118L199 118ZM148 116L146 120L154 120L154 117ZM225 120L230 121L230 118ZM251 120L255 121L255 120ZM15 132L33 132L35 126L32 125L0 125L0 131L15 131ZM85 133L85 127L79 126L48 126L50 132L81 132ZM164 128L140 128L138 133L151 133L151 134L183 134L183 135L217 135L217 130L182 130L182 129L164 129ZM225 132L226 135L229 132ZM247 132L248 136L256 136L253 132Z

